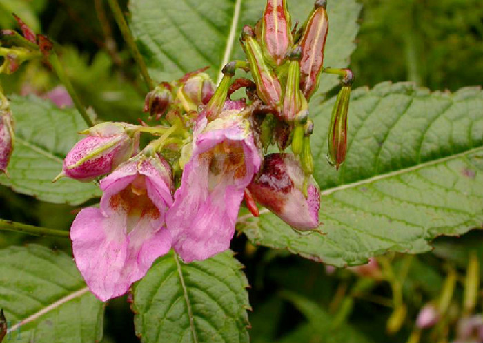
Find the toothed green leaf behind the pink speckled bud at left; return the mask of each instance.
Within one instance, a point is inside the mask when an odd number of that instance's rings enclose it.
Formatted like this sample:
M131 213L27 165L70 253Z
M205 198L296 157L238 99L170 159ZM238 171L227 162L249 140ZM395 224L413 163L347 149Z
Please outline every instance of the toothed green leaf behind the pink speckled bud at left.
M86 129L77 110L60 110L48 100L14 96L10 101L15 118L15 147L0 183L39 200L79 205L100 196L94 183L52 179L62 171L62 160Z

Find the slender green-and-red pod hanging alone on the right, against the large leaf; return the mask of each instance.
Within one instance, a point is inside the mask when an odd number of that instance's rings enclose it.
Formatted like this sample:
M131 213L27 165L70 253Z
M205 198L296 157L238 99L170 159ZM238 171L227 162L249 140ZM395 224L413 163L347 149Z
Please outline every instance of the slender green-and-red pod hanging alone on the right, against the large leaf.
M347 112L351 98L351 86L344 85L337 94L332 110L331 125L328 128L327 159L339 169L346 160L347 150Z

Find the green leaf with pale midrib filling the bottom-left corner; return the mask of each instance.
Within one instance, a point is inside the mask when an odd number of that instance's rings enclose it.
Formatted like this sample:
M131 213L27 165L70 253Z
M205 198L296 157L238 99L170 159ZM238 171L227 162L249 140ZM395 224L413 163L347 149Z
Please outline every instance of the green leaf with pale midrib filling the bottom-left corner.
M0 285L6 342L101 340L103 303L89 292L65 253L39 245L1 249Z

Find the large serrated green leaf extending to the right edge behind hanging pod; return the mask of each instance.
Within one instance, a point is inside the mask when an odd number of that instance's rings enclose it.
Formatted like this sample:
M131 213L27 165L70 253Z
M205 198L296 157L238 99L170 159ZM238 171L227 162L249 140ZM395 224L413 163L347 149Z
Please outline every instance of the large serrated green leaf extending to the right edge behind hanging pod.
M334 100L315 114L320 229L297 233L266 211L239 228L259 245L344 266L386 251L422 253L436 236L483 223L483 92L430 93L408 83L356 90L346 164L326 163ZM245 224L243 223L245 222Z

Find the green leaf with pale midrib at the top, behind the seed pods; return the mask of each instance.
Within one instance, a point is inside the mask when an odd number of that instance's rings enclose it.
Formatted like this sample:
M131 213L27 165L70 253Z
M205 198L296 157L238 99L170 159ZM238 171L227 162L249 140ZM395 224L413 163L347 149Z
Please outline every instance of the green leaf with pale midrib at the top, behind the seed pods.
M288 1L293 23L304 23L313 0ZM243 57L238 39L244 25L262 17L264 0L132 0L131 28L149 72L156 81L179 79L186 72L209 66L208 74L221 79L221 68ZM355 0L328 1L330 29L325 65L346 67L355 48L361 6ZM337 85L323 77L320 90Z

